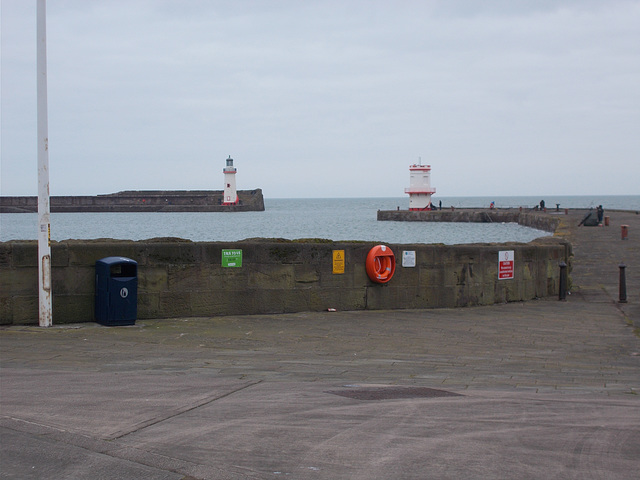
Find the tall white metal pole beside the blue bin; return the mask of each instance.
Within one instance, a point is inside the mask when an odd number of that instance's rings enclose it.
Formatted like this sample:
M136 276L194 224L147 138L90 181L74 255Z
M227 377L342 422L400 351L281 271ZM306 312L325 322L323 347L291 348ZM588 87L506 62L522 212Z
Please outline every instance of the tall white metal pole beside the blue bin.
M47 20L45 0L37 9L38 70L38 284L39 325L53 323L51 299L51 220L49 205L49 133L47 122Z

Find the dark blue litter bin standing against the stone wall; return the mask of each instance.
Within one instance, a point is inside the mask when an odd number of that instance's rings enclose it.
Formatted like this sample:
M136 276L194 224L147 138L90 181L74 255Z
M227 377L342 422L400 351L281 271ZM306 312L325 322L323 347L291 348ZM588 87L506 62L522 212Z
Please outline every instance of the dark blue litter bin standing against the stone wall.
M138 314L138 262L106 257L96 262L96 322L134 325Z

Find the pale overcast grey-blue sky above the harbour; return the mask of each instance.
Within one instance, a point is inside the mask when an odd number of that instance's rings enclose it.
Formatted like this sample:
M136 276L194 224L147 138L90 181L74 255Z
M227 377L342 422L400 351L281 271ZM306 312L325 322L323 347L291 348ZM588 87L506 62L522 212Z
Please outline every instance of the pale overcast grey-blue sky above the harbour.
M36 1L0 0L2 195L37 195ZM50 191L640 194L640 0L48 0Z

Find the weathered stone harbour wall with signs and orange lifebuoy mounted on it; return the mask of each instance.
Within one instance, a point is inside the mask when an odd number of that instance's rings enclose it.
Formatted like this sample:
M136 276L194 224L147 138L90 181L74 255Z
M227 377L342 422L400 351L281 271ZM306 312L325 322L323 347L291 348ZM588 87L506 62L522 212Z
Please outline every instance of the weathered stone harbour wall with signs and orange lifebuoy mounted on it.
M65 241L52 244L55 323L93 320L95 262L124 256L138 262L138 318L297 311L462 307L556 295L558 263L571 245L558 238L529 244L390 245L396 273L371 282L365 259L372 243L171 239ZM241 249L241 268L222 267L223 249ZM345 273L333 273L344 250ZM415 251L416 266L402 267ZM498 252L515 251L515 278L498 280ZM37 323L37 242L0 243L0 324Z

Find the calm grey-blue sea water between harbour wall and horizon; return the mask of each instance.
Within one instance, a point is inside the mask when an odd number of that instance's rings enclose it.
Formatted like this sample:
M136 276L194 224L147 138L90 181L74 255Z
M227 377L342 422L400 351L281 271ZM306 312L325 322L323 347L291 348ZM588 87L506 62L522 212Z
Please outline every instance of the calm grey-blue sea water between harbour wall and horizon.
M640 211L640 195L547 197L437 197L442 208L533 208L544 200L550 214L564 208ZM249 238L360 240L380 243L529 242L549 232L515 223L378 222L378 210L407 210L399 198L265 198L263 212L52 213L51 239L146 240L174 237L197 242ZM560 212L556 213L558 208ZM0 241L36 240L37 214L0 214Z

